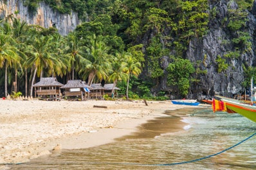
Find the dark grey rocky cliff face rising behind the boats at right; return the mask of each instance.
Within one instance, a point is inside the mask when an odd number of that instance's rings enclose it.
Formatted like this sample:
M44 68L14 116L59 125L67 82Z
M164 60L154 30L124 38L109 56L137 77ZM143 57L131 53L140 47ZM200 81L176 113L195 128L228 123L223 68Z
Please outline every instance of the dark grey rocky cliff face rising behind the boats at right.
M230 65L228 69L222 72L217 71L217 56L224 56L235 50L232 43L234 33L228 30L222 21L228 17L228 8L234 10L237 8L237 4L234 1L224 0L214 2L210 4L210 8L216 8L216 16L209 22L208 34L201 39L192 40L188 47L187 58L192 62L203 61L201 69L207 71L199 78L200 83L192 86L190 98L211 96L211 92L232 97L234 94L244 91L241 87L241 82L244 81L242 64L255 67L253 64L255 64L256 19L253 15L255 10L253 10L252 13L248 12L248 20L242 30L242 32L249 33L251 37L251 49L242 51L239 58L226 58L226 63ZM255 2L254 4L256 4ZM255 9L255 5L253 9Z

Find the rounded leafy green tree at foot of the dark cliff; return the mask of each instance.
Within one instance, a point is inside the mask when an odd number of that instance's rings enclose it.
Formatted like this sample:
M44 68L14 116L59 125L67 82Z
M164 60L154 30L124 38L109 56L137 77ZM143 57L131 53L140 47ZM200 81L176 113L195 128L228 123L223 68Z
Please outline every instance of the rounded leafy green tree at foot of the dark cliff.
M169 64L167 71L167 83L178 88L178 94L185 97L188 94L192 73L195 72L192 63L187 59L177 58Z

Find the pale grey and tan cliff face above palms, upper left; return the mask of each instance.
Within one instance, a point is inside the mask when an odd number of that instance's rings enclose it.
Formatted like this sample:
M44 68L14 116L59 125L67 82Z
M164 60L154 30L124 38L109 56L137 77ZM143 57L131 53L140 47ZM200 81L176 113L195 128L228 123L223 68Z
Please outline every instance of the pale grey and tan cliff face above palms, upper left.
M68 35L79 24L77 13L62 14L53 11L50 6L40 3L36 15L29 15L28 8L23 5L23 1L6 0L0 1L0 18L14 15L28 24L37 24L44 28L55 27L61 35Z

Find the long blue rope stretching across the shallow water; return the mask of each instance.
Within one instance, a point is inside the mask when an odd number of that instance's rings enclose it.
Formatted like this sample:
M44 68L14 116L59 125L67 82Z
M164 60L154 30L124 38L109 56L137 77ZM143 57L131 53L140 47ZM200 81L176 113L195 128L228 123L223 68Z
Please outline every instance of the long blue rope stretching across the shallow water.
M238 146L239 144L242 144L246 140L251 139L255 135L256 135L256 133L253 133L252 135L250 135L250 137L247 137L246 139L242 140L241 142L238 142L237 144L235 144L233 146L230 146L229 148L226 148L223 151L219 151L218 153L215 153L215 154L212 154L212 155L208 155L208 156L202 157L202 158L197 158L197 159L194 159L194 160L184 161L184 162L174 162L174 163L170 163L170 164L139 164L139 163L122 163L122 162L86 162L86 163L87 164L134 165L134 166L175 166L175 165L180 165L180 164L188 164L188 163L197 162L197 161L204 160L206 158L214 157L216 155L224 153L225 151L228 151L228 150L230 150L232 148L235 148L235 146ZM17 163L17 164L0 164L0 165L19 165L19 164L22 164L22 163Z

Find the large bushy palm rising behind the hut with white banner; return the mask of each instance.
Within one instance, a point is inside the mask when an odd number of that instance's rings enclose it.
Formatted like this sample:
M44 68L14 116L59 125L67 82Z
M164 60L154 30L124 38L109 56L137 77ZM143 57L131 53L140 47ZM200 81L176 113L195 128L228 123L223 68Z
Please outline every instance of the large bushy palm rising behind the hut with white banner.
M98 80L106 80L107 74L111 69L109 58L107 54L108 47L102 40L102 36L96 37L93 35L89 37L89 44L87 45L86 60L84 67L80 69L80 73L84 78L88 78L88 85L91 85L95 78Z

